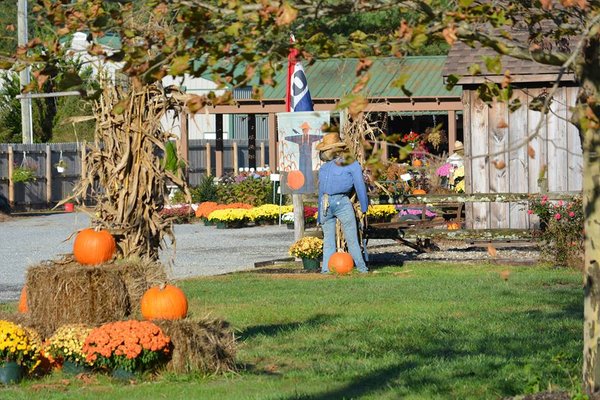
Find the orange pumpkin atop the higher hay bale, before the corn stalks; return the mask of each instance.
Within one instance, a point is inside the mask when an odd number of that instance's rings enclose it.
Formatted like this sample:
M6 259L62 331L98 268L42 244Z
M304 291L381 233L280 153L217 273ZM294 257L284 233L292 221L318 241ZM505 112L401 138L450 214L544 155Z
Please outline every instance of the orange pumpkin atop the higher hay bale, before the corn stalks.
M108 231L88 228L75 237L73 254L80 264L98 265L110 260L116 247L115 238Z

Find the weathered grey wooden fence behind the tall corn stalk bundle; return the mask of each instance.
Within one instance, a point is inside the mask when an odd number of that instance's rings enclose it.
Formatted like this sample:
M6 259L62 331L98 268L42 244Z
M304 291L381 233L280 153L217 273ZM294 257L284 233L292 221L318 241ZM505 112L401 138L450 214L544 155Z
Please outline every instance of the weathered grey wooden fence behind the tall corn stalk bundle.
M85 168L85 152L84 143L0 144L0 194L17 210L53 206L79 180ZM240 168L249 168L250 155L247 140L224 140L222 151L217 151L215 140L190 140L188 181L197 185L207 171L213 176L235 174ZM268 156L268 141L257 141L256 167L267 166ZM35 165L35 181L13 182L12 172L24 159ZM61 159L66 163L62 173L56 168Z

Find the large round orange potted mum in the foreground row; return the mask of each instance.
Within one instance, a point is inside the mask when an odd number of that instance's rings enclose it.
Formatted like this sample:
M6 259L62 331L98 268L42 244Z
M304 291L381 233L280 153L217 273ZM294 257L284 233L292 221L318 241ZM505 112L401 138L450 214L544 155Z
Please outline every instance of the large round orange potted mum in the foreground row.
M93 329L83 344L86 360L117 378L131 378L167 361L171 339L150 321L109 322Z

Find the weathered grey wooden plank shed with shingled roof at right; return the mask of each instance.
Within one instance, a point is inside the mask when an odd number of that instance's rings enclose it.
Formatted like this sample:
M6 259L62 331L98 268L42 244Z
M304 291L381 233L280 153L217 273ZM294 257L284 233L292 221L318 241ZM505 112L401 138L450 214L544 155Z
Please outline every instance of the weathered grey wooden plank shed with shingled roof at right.
M577 128L569 123L569 108L575 105L578 92L574 76L560 76L558 88L552 91L558 68L503 57L501 74L486 73L483 57L494 56L491 50L458 43L443 70L444 79L461 76L466 191L581 191L581 141ZM482 66L483 74L468 74L474 63ZM507 70L513 98L522 104L514 111L502 102L486 104L477 92L481 83L502 82ZM536 104L550 95L550 112L536 111ZM528 228L537 222L522 203L472 203L466 208L466 220L467 227L474 229Z

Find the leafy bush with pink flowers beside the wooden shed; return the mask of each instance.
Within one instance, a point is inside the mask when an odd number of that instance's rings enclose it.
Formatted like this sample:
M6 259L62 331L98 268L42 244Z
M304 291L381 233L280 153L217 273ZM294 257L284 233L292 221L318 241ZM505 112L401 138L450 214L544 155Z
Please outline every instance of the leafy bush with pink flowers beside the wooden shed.
M570 201L550 201L548 196L529 200L529 214L540 219L539 239L547 261L570 267L583 266L583 203L581 196Z

